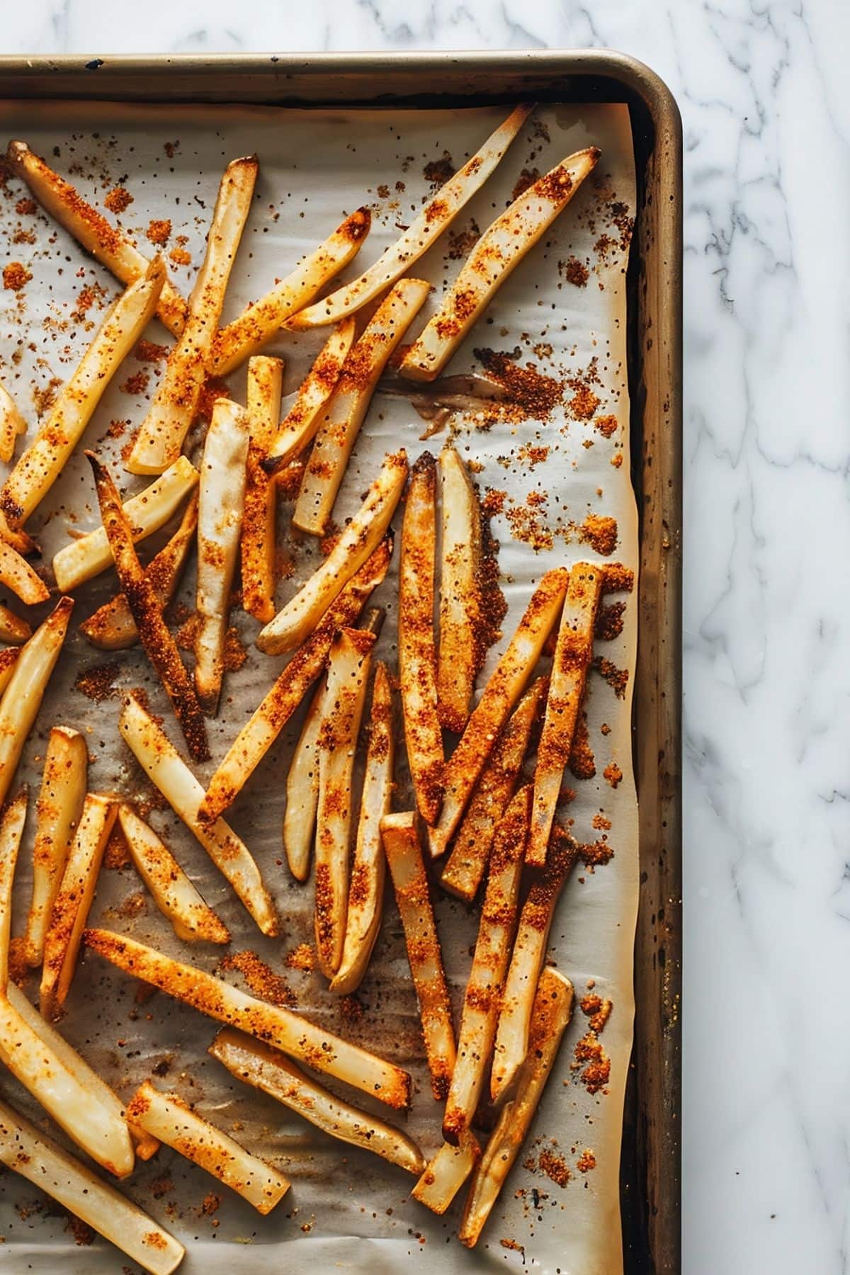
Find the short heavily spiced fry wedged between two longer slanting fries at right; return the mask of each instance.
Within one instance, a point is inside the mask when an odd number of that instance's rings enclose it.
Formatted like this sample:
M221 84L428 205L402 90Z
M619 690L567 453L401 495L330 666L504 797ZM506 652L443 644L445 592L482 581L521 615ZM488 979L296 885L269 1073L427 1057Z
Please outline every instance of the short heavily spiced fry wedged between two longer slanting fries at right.
M549 681L538 677L514 709L500 734L461 820L440 881L445 890L472 903L478 894L496 825L514 796L529 738L545 703Z

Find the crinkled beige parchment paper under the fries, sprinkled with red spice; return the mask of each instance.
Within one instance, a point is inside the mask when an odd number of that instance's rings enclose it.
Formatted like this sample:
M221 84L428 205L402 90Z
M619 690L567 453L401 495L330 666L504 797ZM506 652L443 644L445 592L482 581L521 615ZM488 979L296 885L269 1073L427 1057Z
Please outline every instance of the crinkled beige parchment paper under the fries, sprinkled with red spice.
M133 203L126 205L120 221L138 233L141 245L147 244L145 229L152 219L171 219L167 251L178 247L190 259L189 264L173 268L184 291L189 291L203 252L223 163L256 150L261 170L255 208L233 272L224 319L264 292L271 278L288 273L344 213L368 203L375 214L372 232L345 275L356 277L398 235L398 224L407 224L431 193L432 186L423 172L426 164L443 159L446 152L455 166L460 164L507 113L500 108L307 113L247 107L84 103L6 103L0 110L8 136L23 138L61 172L70 171L90 198L99 201L115 186L131 194ZM628 116L619 106L554 106L538 111L535 121L522 130L497 172L452 228L457 233L469 228L474 219L483 229L510 200L522 168L544 172L580 147L591 143L601 147L599 180L579 191L544 241L521 263L450 367L451 372L478 367L473 351L487 347L497 352L517 351L521 365L531 361L539 372L562 382L570 379L575 382L563 385L565 402L547 421L516 419L516 413L505 413L503 419L488 418L486 428L480 427L480 421L463 416L452 422L461 453L483 467L477 476L482 491L506 493L505 497L492 496L491 504L505 509L493 518L493 530L501 544L500 569L508 616L502 626L505 638L491 653L488 668L543 571L558 562L598 557L589 544L580 543L575 536L567 538L559 529L581 524L589 513L614 516L618 543L613 558L637 566L624 362L627 235L623 227L635 208ZM396 182L404 189L396 189ZM25 194L9 182L0 203L6 261L19 261L32 272L24 288L19 292L5 289L1 295L5 306L0 310L0 371L34 426L37 404L32 385L38 386L43 404L45 389L54 377L64 379L73 370L90 339L87 328L97 321L98 306L108 303L117 287L107 272L83 258L64 232L40 215L18 210L18 201ZM29 242L33 233L36 241ZM178 244L177 236L186 236L186 242ZM451 280L460 265L459 260L447 256L452 242L449 237L441 240L414 270L437 289ZM584 287L570 282L566 263L571 258L589 266ZM572 273L580 278L581 272ZM85 309L84 302L90 297L84 289L93 286L97 286L94 291L103 288L103 295L96 295ZM169 342L154 328L149 335L153 340ZM287 393L294 391L322 339L320 332L287 337L270 347L270 352L279 352L287 360ZM594 358L596 381L586 375ZM138 377L149 374L147 393L153 393L154 368L155 365L127 360L126 371L122 368L116 377L89 426L89 445L96 444L104 455L117 460L129 432L111 437L120 433L119 427L111 427L112 422L130 422L131 428L141 419L147 404L139 397ZM245 370L228 377L228 382L233 395L243 399ZM599 398L594 417L616 416L618 425L612 437L607 439L590 421L575 418L576 412L586 408L585 391ZM356 509L385 450L403 442L413 459L426 445L435 451L438 449L440 437L428 444L419 440L423 427L424 422L404 399L376 397L340 492L338 516ZM587 442L593 445L586 446ZM535 448L548 448L545 458L535 453ZM619 468L612 465L618 451L624 458ZM140 479L121 477L127 493L144 486ZM512 536L512 527L526 519L515 513L511 523L506 514L511 509L528 509L529 492L547 497L543 506L537 497L540 532L537 539L543 543L547 530L552 532L552 548L535 552L526 541ZM46 561L69 534L97 524L93 506L88 465L82 455L75 455L46 505L47 520L40 533ZM288 513L284 506L284 527ZM292 595L315 561L311 546L299 543L289 550L294 574L279 586L280 603ZM190 569L182 594L189 606L191 576ZM75 622L88 616L113 589L110 575L80 589ZM376 595L376 601L387 607L378 654L391 663L395 655L394 589L393 578ZM241 615L234 618L245 640L250 641L257 626ZM632 597L621 638L598 646L599 654L630 671L635 667L635 618ZM164 696L153 683L144 658L138 652L125 652L106 659L120 664L117 688L145 687L154 710L164 714L169 733L178 742L180 734ZM150 796L149 789L133 757L117 741L117 699L94 704L73 688L80 668L103 663L104 658L74 634L46 696L20 775L37 785L47 731L51 724L64 722L88 733L93 788L119 789L144 801ZM222 713L210 731L214 761L203 770L203 778L224 754L268 687L273 671L282 663L251 649L243 668L229 674ZM575 820L573 831L582 841L603 835L593 827L594 816L609 820L612 827L605 835L616 853L610 863L594 873L581 871L573 876L561 900L551 940L551 958L572 978L579 997L593 980L594 991L613 1001L613 1014L600 1038L612 1062L608 1093L589 1095L580 1072L570 1066L575 1044L586 1030L586 1019L577 1011L529 1145L520 1156L520 1162L528 1156L539 1159L540 1150L548 1150L566 1160L571 1178L561 1187L539 1168L517 1163L473 1253L452 1238L459 1205L443 1219L432 1216L408 1200L412 1182L401 1170L366 1153L333 1144L270 1099L238 1086L205 1056L214 1034L209 1021L159 994L136 1003L133 980L99 959L90 955L85 959L64 1025L69 1039L80 1046L125 1095L152 1068L161 1072L167 1068L163 1084L194 1099L203 1113L224 1127L233 1128L236 1122L237 1136L254 1150L275 1158L294 1181L277 1214L259 1219L242 1201L226 1198L223 1190L215 1191L212 1179L168 1150L141 1165L127 1190L187 1243L185 1270L223 1271L234 1260L247 1265L247 1255L229 1247L240 1242L263 1246L285 1242L288 1247L284 1251L275 1248L274 1255L283 1256L296 1270L306 1269L311 1261L320 1264L320 1269L395 1271L412 1258L446 1271L488 1269L494 1264L521 1267L522 1262L542 1271L582 1275L619 1269L619 1130L631 1048L631 963L637 905L630 706L630 686L623 699L616 699L613 690L593 676L587 715L596 776L568 780L576 789L576 798L566 813ZM607 734L601 732L603 723L610 727ZM359 992L363 1007L359 1020L343 1016L317 973L285 968L285 955L312 937L311 890L296 886L282 863L285 761L298 727L299 720L294 720L284 732L231 811L231 821L255 853L280 907L284 921L280 940L270 941L259 935L201 848L167 811L152 812L150 820L231 927L233 950L250 947L256 951L287 978L301 1009L413 1071L417 1093L405 1127L429 1154L440 1142L441 1108L431 1098L421 1060L415 1002L394 904L387 903L372 968ZM609 762L623 771L616 789L603 776ZM398 808L404 808L409 799L407 776L400 774ZM32 824L28 833L31 836ZM24 848L18 887L18 900L24 903L25 864ZM127 907L127 899L139 890L140 882L131 870L104 871L93 922L154 942L204 968L215 968L220 951L192 947L187 956L187 949L173 938L150 901L144 910L131 914L134 909ZM459 901L442 898L437 917L459 1011L477 915ZM234 974L226 977L238 980ZM32 1111L27 1095L14 1082L9 1081L4 1089L13 1102ZM576 1162L585 1148L593 1149L596 1168L582 1174ZM70 1271L120 1269L115 1251L98 1241L90 1248L75 1248L61 1218L37 1214L22 1218L15 1205L32 1204L36 1195L25 1184L6 1176L1 1187L0 1234L6 1246L18 1246L15 1257L22 1264L25 1261L33 1270L54 1270L61 1253ZM203 1200L210 1190L222 1196L220 1207L213 1216L203 1213ZM505 1239L516 1247L503 1247ZM254 1261L270 1257L271 1253L264 1250Z

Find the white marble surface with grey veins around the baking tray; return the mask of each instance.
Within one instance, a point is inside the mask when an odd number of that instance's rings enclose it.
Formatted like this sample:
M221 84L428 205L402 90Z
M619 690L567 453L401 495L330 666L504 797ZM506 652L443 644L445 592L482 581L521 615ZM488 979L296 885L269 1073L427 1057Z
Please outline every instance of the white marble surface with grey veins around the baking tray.
M850 96L837 0L27 0L4 52L609 46L686 140L684 1269L850 1262Z

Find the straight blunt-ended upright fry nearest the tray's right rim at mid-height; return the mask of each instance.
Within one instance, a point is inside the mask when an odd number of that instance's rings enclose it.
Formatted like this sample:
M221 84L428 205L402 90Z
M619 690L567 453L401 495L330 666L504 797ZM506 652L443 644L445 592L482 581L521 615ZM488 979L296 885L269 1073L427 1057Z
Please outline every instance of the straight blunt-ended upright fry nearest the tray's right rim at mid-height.
M526 857L529 864L535 867L545 863L554 808L558 805L563 771L570 761L587 669L593 660L594 629L604 584L604 566L576 562L570 567L570 584L552 659L549 694L534 771L534 817Z

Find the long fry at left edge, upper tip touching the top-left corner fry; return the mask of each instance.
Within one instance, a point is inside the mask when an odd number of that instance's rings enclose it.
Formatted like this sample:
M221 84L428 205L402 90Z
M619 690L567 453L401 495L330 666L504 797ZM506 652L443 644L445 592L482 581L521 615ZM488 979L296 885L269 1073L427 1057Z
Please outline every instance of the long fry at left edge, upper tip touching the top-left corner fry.
M3 484L0 510L10 527L23 527L65 468L103 391L153 317L163 278L164 268L155 261L107 310L47 421Z

